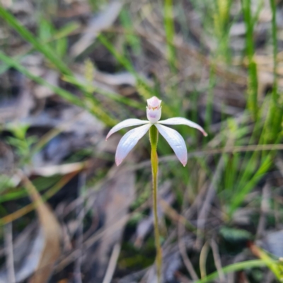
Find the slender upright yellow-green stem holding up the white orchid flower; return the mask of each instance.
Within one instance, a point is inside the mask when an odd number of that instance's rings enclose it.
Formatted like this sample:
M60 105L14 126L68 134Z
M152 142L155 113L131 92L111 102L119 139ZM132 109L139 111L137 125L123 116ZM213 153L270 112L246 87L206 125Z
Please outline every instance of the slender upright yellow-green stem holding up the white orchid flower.
M158 130L155 126L149 129L149 140L151 142L151 168L152 168L152 189L154 195L154 237L156 245L156 272L157 281L161 283L161 270L162 270L162 250L160 245L160 233L158 228L158 215L157 215L157 175L158 175L158 156L157 156L157 142Z

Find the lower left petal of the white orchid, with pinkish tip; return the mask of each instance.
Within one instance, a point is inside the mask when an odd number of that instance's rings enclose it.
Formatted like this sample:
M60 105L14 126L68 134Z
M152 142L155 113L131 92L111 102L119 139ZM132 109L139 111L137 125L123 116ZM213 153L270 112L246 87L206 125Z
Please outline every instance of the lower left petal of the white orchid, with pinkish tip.
M120 163L127 156L127 154L129 154L129 151L133 149L133 147L137 144L139 139L141 139L141 137L144 137L144 134L146 134L146 132L149 130L150 127L151 124L146 124L144 126L131 129L129 132L127 132L127 134L125 134L122 137L122 139L120 140L117 146L117 151L115 156L115 161L117 166L119 166Z

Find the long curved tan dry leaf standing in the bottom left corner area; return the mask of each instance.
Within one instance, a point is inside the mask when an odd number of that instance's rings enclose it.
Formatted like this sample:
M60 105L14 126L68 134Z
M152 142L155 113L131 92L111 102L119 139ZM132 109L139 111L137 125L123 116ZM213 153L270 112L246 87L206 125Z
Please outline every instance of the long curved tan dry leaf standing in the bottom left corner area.
M30 199L37 203L36 211L40 220L42 237L44 238L41 255L29 283L45 283L52 274L54 263L60 255L61 230L56 216L43 202L33 183L23 173L20 172L19 175L21 175L23 184L28 190Z

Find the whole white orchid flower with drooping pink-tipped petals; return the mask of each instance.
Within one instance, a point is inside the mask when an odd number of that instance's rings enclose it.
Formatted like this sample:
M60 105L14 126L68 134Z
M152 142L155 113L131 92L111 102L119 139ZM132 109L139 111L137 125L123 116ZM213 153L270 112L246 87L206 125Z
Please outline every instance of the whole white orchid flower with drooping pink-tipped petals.
M189 127L199 129L200 132L204 134L204 136L207 136L207 133L204 132L204 129L202 129L200 125L197 125L197 123L187 120L183 117L174 117L159 121L161 118L161 100L156 98L156 96L147 100L146 116L148 120L124 120L118 123L115 127L112 127L112 129L108 133L106 140L111 136L111 134L114 134L120 129L123 129L125 127L143 125L141 127L131 129L120 140L115 156L115 162L117 166L122 163L127 154L129 154L129 151L134 148L141 137L144 137L144 134L149 131L149 128L151 126L156 127L158 129L158 132L160 132L164 139L168 141L168 144L171 146L183 166L187 164L187 147L185 145L185 140L177 131L175 131L175 129L171 129L163 125L187 125Z

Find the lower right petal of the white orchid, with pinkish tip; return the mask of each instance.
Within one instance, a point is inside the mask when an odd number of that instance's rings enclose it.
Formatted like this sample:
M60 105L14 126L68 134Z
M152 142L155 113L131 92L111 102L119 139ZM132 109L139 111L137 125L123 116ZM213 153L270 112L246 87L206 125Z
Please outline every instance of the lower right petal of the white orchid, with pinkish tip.
M171 129L159 124L154 125L158 129L158 132L160 132L164 137L164 139L168 141L168 144L170 144L183 166L185 166L187 164L187 147L185 145L183 137L177 131L175 131L175 129Z

